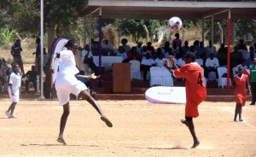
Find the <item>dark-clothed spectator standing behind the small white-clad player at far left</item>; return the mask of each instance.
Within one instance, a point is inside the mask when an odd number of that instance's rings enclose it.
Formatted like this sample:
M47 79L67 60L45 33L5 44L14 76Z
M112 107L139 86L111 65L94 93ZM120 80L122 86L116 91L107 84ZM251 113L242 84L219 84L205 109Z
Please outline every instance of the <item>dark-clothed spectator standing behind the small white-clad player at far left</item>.
M20 45L20 39L17 39L15 41L15 44L12 45L11 48L11 55L14 57L14 62L19 64L20 70L21 70L21 75L24 74L24 68L23 68L23 61L21 59L21 45Z

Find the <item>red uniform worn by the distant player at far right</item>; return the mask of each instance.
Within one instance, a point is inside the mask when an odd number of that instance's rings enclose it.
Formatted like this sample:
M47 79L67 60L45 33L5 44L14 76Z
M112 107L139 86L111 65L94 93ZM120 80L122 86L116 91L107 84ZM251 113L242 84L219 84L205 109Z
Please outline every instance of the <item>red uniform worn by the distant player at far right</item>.
M247 99L247 78L246 74L241 74L241 78L234 76L236 102L245 105Z

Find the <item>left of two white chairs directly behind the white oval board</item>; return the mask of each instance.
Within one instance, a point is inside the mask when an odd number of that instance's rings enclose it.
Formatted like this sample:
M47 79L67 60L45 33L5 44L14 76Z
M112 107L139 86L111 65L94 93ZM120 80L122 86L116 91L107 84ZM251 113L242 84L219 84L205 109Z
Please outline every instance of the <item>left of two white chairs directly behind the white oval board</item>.
M150 67L150 86L161 85L162 82L160 67Z

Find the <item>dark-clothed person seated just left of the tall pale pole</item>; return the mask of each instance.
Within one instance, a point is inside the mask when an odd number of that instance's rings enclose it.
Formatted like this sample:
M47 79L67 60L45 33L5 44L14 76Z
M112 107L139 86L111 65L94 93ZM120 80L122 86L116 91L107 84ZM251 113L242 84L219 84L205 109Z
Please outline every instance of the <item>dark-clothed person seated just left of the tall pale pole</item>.
M37 76L38 76L38 72L35 66L31 67L31 70L29 70L28 72L26 72L25 77L26 77L26 92L28 92L28 84L30 82L33 83L33 87L34 87L34 92L38 92L37 90Z

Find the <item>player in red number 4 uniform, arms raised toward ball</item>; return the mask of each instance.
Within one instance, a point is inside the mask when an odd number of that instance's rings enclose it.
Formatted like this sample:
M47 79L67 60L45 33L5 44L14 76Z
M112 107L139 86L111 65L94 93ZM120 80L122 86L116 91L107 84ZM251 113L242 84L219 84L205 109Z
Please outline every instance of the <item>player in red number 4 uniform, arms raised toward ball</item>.
M185 107L185 119L181 122L189 127L189 131L194 139L194 144L191 148L196 148L200 142L195 135L195 126L193 118L199 116L198 105L203 102L207 97L207 89L203 82L203 72L201 66L195 62L195 54L189 52L184 55L185 65L178 68L174 62L174 58L170 55L170 61L173 67L168 65L166 59L163 60L166 69L169 70L176 78L185 78L186 88L186 107Z

